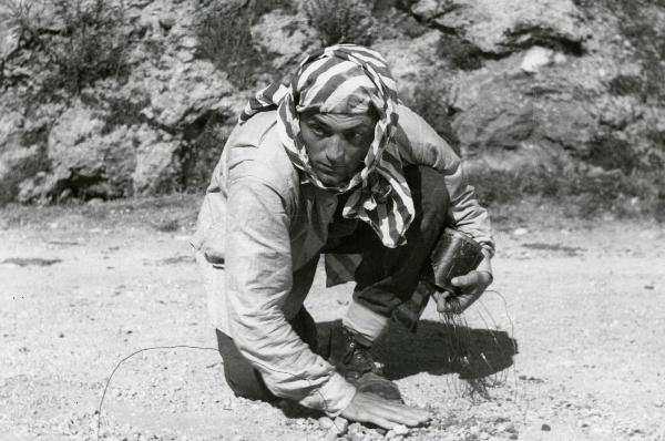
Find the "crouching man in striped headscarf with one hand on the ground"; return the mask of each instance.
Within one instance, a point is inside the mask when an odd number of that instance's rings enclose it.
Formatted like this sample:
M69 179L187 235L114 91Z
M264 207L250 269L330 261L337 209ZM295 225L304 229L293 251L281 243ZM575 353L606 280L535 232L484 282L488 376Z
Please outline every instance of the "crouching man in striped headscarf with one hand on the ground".
M399 401L370 348L417 288L432 286L430 253L446 226L485 255L452 280L460 311L492 279L488 215L459 157L398 103L377 52L327 48L288 86L260 91L224 147L194 239L229 387L386 429L426 422L426 411ZM303 301L320 254L349 252L362 258L329 362ZM450 311L447 295L434 297Z

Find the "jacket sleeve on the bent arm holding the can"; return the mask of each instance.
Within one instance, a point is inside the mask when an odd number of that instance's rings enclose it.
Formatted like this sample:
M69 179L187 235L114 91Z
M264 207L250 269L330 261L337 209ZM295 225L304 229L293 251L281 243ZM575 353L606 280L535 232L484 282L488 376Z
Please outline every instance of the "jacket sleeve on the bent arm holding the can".
M469 234L494 254L490 218L475 198L473 186L464 177L460 157L422 117L405 105L398 106L399 129L396 135L405 165L426 165L446 176L450 195L450 214L456 228Z

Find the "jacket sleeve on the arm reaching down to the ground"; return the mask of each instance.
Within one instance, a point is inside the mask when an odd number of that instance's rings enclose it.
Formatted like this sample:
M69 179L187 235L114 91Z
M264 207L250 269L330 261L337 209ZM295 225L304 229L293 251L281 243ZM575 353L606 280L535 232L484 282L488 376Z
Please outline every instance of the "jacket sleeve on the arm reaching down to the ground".
M335 416L351 401L355 388L311 352L282 310L293 285L285 206L260 174L231 180L226 296L232 338L273 393Z

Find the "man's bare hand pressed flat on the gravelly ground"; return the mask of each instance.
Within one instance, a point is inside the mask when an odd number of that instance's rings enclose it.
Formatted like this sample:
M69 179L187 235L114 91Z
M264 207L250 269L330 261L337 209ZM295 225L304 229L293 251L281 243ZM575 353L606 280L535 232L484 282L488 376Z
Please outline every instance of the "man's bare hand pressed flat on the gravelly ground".
M421 425L430 420L430 413L427 410L364 392L357 392L340 416L347 420L369 422L386 430L390 430L397 424Z

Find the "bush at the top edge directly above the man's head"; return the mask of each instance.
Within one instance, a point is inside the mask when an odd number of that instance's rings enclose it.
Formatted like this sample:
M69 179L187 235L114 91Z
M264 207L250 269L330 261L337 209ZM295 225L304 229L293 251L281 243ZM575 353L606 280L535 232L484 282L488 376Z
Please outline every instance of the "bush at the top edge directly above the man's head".
M362 0L306 0L303 8L324 45L374 41L375 20Z

